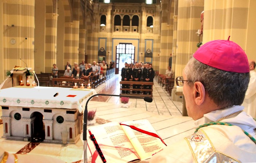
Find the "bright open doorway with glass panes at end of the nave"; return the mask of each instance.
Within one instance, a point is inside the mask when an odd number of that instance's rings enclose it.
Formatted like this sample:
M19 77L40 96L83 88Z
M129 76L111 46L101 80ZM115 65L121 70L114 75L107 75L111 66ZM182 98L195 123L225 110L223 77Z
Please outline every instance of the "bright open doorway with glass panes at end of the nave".
M124 67L124 63L134 63L135 46L132 43L119 43L116 46L116 74Z

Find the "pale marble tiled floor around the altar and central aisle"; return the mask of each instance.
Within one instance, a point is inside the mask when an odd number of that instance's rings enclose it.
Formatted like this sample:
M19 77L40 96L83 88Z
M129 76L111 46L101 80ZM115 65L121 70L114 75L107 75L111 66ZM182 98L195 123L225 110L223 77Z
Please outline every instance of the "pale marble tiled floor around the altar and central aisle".
M97 117L109 121L131 121L147 119L167 145L183 139L194 132L194 121L190 117L182 117L182 102L172 101L167 92L154 81L153 102L146 103L143 99L129 99L129 107L122 107L118 97L94 97L88 103L88 109L97 109ZM98 86L97 93L119 94L119 75ZM105 101L105 102L101 102ZM1 110L0 110L1 116ZM98 125L98 124L96 124ZM0 124L0 136L3 135L3 124ZM16 153L28 142L5 140L0 138L0 146L10 153ZM65 160L67 163L81 160L82 141L76 144L40 143L30 154L48 155Z

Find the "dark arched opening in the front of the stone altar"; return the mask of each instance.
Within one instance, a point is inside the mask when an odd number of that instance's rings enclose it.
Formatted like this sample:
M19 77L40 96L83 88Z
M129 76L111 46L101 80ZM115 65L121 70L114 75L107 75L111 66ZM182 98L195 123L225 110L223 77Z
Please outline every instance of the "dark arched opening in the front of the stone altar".
M31 124L31 141L40 142L45 139L43 115L40 112L34 112L30 118L35 117L34 123ZM34 124L34 125L33 125Z

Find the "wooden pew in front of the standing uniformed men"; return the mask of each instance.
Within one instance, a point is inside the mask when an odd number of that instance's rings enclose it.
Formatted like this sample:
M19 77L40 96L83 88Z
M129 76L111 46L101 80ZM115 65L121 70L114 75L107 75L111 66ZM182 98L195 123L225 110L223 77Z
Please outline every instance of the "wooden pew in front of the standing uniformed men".
M129 88L122 88L122 84L129 84ZM132 86L133 84L136 85L141 85L141 89L133 89ZM144 89L144 85L151 85L151 89ZM120 81L120 95L124 96L138 96L138 97L152 97L153 96L153 85L154 82L136 82L136 81ZM128 90L130 94L125 94L122 93L122 91ZM140 91L140 92L150 92L151 94L137 94L137 93L132 93L132 91Z

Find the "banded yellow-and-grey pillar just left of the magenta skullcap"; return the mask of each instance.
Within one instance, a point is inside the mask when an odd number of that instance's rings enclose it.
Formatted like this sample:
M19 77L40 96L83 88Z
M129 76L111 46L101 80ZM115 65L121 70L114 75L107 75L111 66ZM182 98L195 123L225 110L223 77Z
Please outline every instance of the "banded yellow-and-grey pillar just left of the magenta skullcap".
M200 14L203 0L179 1L177 24L177 53L175 77L181 76L190 56L197 50L198 29L201 29Z

